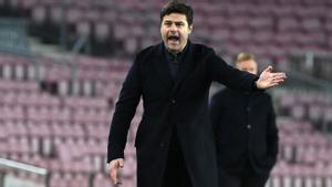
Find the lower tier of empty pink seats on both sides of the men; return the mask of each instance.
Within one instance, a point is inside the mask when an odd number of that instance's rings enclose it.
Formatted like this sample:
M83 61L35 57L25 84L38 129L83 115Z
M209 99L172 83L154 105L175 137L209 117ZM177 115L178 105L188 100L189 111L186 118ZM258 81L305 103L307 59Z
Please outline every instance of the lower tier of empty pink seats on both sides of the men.
M75 58L77 72L84 72L77 73L77 79L98 84L91 86L98 91L93 91L95 95L72 95L49 92L41 86L42 82L70 82L70 74L50 79L50 74L41 73L40 83L34 80L37 71L28 76L35 61L43 72L54 69L71 72L70 65L56 62L59 59L52 62L50 58L0 55L0 156L48 168L51 187L112 186L105 166L108 125L128 63ZM277 92L280 153L268 187L332 185L332 144L324 135L332 132L331 101L314 92ZM122 174L127 187L136 183L134 139L142 107L141 103L127 137Z

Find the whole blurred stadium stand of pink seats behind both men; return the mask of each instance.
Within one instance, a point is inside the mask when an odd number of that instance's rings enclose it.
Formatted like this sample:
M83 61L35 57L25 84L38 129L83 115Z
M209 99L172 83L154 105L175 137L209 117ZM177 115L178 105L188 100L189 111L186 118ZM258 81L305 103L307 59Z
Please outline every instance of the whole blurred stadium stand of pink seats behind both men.
M114 104L133 55L159 40L163 3L0 0L0 157L45 168L48 187L112 187L105 156ZM271 91L280 154L267 187L332 187L332 1L190 4L194 41L228 60L251 52L262 66L288 72L287 83ZM124 187L136 184L142 113L139 104ZM2 167L0 174L27 177Z

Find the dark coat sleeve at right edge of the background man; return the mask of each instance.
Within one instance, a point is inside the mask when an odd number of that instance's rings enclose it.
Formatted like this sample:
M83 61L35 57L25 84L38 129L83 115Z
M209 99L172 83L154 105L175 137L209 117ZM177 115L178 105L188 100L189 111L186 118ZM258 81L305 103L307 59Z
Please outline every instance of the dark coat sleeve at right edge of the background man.
M278 156L279 148L279 136L278 136L278 127L276 124L276 113L272 104L272 98L269 96L269 116L268 116L268 125L267 125L267 146L268 146L268 156L271 158L271 165L274 165Z

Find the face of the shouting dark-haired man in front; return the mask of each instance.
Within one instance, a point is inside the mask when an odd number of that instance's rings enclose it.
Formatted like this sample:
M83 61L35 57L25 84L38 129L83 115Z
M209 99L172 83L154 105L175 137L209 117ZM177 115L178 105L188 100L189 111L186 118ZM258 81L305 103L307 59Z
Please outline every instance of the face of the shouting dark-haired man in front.
M193 25L188 25L185 14L170 13L163 18L160 25L162 39L168 51L178 53L187 44Z

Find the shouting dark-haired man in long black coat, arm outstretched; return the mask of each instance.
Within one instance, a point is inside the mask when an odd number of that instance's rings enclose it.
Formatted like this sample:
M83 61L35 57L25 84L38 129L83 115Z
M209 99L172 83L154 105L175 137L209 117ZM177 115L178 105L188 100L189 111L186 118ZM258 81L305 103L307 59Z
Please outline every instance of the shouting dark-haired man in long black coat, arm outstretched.
M214 50L188 40L193 9L168 3L160 12L163 42L141 51L123 83L108 136L107 163L121 183L127 131L143 98L135 146L138 187L217 187L217 163L208 112L211 81L255 91L281 83L268 67L260 77L227 65Z

